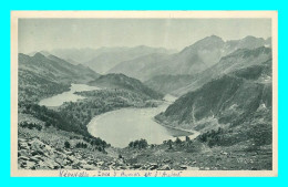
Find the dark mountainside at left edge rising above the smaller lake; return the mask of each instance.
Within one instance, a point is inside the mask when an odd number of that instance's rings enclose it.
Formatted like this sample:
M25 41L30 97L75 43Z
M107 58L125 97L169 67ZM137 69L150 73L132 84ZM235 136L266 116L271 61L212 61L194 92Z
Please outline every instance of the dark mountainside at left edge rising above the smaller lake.
M71 63L54 55L19 53L19 101L35 102L42 97L69 90L70 84L86 83L100 75L83 65Z

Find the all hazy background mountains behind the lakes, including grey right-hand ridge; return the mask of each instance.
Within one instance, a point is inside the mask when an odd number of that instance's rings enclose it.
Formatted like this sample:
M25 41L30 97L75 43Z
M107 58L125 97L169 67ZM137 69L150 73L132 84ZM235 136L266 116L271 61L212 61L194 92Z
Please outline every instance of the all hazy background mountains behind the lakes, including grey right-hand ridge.
M82 72L84 66L89 66L93 70L91 72L92 70L86 69L90 71L89 74L95 72L125 74L141 80L157 92L179 96L199 89L223 74L269 60L267 56L271 55L270 46L271 38L265 40L246 37L241 40L225 42L219 37L210 35L186 46L181 52L140 45L97 50L52 50L41 51L37 54L42 54L53 61L56 59L60 61L60 58L65 59L62 61L70 62L72 66L78 64L76 67L82 69L80 70ZM51 55L51 53L56 55ZM34 54L31 53L31 58ZM70 79L74 76L74 81L78 80L79 75L75 72L70 75ZM89 80L93 81L94 75Z

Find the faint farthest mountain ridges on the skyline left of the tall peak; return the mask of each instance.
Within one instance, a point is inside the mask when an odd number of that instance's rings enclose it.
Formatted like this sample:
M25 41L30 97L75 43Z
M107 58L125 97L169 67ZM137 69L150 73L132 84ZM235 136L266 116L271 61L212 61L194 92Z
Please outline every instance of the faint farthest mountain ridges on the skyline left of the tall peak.
M105 74L107 71L117 63L136 59L142 55L152 53L172 54L176 53L176 50L166 50L164 48L151 48L145 45L138 45L134 48L115 46L115 48L100 48L100 49L55 49L51 51L40 51L43 55L50 54L59 56L72 64L83 64L91 67L97 73ZM33 56L38 52L29 53Z

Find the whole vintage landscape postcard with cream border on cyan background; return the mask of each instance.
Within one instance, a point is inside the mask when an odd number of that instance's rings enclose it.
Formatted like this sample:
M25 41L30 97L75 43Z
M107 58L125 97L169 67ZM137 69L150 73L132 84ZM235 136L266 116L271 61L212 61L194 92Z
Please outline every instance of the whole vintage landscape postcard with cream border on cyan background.
M276 11L11 12L12 176L277 176Z

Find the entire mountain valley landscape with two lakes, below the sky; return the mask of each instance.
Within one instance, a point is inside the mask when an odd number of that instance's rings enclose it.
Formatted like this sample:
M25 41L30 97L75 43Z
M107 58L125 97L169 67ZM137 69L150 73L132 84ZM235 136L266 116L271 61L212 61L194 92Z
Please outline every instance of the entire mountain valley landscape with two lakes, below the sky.
M270 170L267 43L20 53L19 169Z

